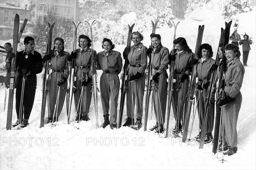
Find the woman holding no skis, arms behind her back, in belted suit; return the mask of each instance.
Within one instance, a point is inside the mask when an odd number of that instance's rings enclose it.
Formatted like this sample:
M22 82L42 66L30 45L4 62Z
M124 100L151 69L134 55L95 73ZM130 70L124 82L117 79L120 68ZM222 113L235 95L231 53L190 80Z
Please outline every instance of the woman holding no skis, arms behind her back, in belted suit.
M108 38L102 41L104 51L97 54L97 69L102 69L103 73L100 78L100 95L103 107L104 123L103 128L109 124L111 129L116 128L116 116L120 81L118 74L122 70L121 53L114 51L115 44ZM109 99L111 99L111 114L109 121Z

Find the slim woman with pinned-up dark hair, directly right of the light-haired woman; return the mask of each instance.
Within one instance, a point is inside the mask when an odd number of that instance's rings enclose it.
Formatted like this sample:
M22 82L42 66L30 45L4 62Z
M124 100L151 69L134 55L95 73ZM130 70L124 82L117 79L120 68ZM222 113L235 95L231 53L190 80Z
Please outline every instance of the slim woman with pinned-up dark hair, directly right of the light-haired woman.
M154 112L157 119L157 123L150 130L156 130L155 133L164 132L164 122L166 113L166 100L167 100L167 87L168 78L166 69L168 69L169 63L169 50L161 43L161 36L159 34L151 34L151 43L153 46L151 65L151 74L153 75L153 103Z

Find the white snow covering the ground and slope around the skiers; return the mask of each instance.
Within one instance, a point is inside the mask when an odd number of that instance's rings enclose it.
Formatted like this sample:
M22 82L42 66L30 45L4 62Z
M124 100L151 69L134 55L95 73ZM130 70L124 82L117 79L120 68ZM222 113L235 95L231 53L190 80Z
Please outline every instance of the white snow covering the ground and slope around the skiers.
M238 16L240 23L238 32L241 34L246 32L253 37L254 42L255 17L255 8L251 12ZM150 21L148 24L151 24ZM224 19L219 9L196 9L186 20L180 21L177 35L185 37L194 51L193 38L196 36L198 25L203 24L205 25L203 43L212 45L215 56L220 28L224 27ZM136 26L134 31L137 31ZM162 36L163 46L172 49L173 29L157 29L156 32ZM233 32L233 27L230 32ZM149 35L150 31L144 35L143 42L146 46L150 44ZM97 52L102 51L100 44L95 44L94 47ZM237 126L238 152L233 156L224 156L227 161L223 164L212 153L212 144L205 144L203 149L198 149L199 145L193 141L182 143L180 139L172 138L172 135L169 138L160 138L152 132L144 132L143 128L139 131L128 127L111 130L109 126L105 129L96 129L94 107L91 107L89 113L91 120L82 121L79 130L73 127L74 108L71 115L72 122L67 125L66 106L59 117L57 127L51 128L45 125L44 128L39 128L42 94L41 76L38 75L35 103L29 119L30 125L23 130L6 130L7 115L6 111L3 112L5 88L0 87L0 169L256 169L255 47L253 43L241 88L243 101ZM115 50L122 52L124 48L125 46L116 46ZM99 78L100 75L98 75L98 82ZM99 94L98 111L99 124L102 124L103 113ZM150 119L151 114L150 111L148 127L152 127L156 122L154 113ZM14 123L15 109L12 117ZM125 118L126 108L123 122ZM175 120L171 113L169 130L174 126ZM197 134L196 113L191 137Z

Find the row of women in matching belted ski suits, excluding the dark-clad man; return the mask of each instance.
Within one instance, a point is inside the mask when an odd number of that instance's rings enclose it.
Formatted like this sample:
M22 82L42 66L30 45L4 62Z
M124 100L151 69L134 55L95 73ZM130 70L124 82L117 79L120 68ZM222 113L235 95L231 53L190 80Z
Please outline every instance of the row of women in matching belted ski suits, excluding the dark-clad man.
M191 75L193 66L196 66L196 77L198 81L194 84L195 100L197 101L197 110L200 122L200 132L195 138L198 140L201 135L201 129L204 121L207 88L210 84L211 73L217 70L218 63L212 59L212 47L209 44L202 44L195 55L186 42L186 39L179 37L173 41L175 51L171 52L161 43L159 34L151 34L151 43L153 48L147 48L141 43L143 35L140 32L133 32L131 40L134 45L131 48L125 48L123 57L128 60L128 83L126 93L127 119L123 126L131 126L138 130L142 127L143 118L143 97L145 88L145 70L147 68L148 56L151 55L152 70L148 74L152 75L153 80L153 103L154 112L157 120L156 125L150 130L155 133L164 132L164 123L166 115L166 101L168 69L169 64L174 62L174 81L172 108L176 121L176 126L172 133L182 133L184 118L186 117L186 97L189 96L189 75ZM79 36L79 49L69 55L64 51L64 40L55 38L55 48L50 55L45 55L43 61L50 60L51 74L49 77L49 97L48 97L48 122L58 121L58 116L64 104L65 88L67 87L68 78L68 61L75 59L76 81L74 90L74 99L76 106L76 121L88 121L91 97L92 97L92 78L91 78L91 55L96 59L96 68L103 70L100 78L100 93L104 113L103 128L110 124L111 129L116 128L117 106L119 96L119 73L122 71L121 53L114 51L115 45L108 38L102 41L104 51L96 53L91 49L91 40L86 35ZM237 134L236 123L241 107L241 84L244 75L244 66L239 61L239 47L234 44L227 44L224 48L227 58L227 72L225 74L225 94L226 98L220 101L219 106L224 108L224 136L226 141L226 150L228 155L236 153ZM221 57L222 49L219 50ZM174 55L173 55L174 54ZM218 70L217 70L218 72ZM58 90L60 92L58 93ZM80 96L81 101L80 101ZM58 98L58 110L55 113L54 105ZM81 102L81 107L79 106ZM205 143L212 141L212 130L214 123L214 97L211 99L213 108L208 116L207 135ZM137 106L137 117L134 120L133 110ZM110 108L111 106L111 108ZM110 110L111 109L111 110ZM80 113L80 114L79 114ZM109 119L110 117L110 119Z

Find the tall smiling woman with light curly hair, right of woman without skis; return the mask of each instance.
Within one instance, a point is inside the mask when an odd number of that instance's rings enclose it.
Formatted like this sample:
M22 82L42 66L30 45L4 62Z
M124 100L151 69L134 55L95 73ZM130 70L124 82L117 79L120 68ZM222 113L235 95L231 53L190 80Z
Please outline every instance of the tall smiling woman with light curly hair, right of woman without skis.
M134 45L131 49L125 50L125 55L128 55L129 61L129 81L127 84L127 95L126 95L126 107L127 107L127 119L123 126L130 126L134 122L132 110L134 110L135 103L137 106L137 121L135 123L135 129L142 127L142 116L143 116L143 96L145 88L145 69L147 67L147 47L143 46L141 41L143 35L139 32L133 32L131 34L131 40ZM134 96L132 98L132 96ZM135 100L136 99L136 100ZM133 102L132 102L133 101Z

